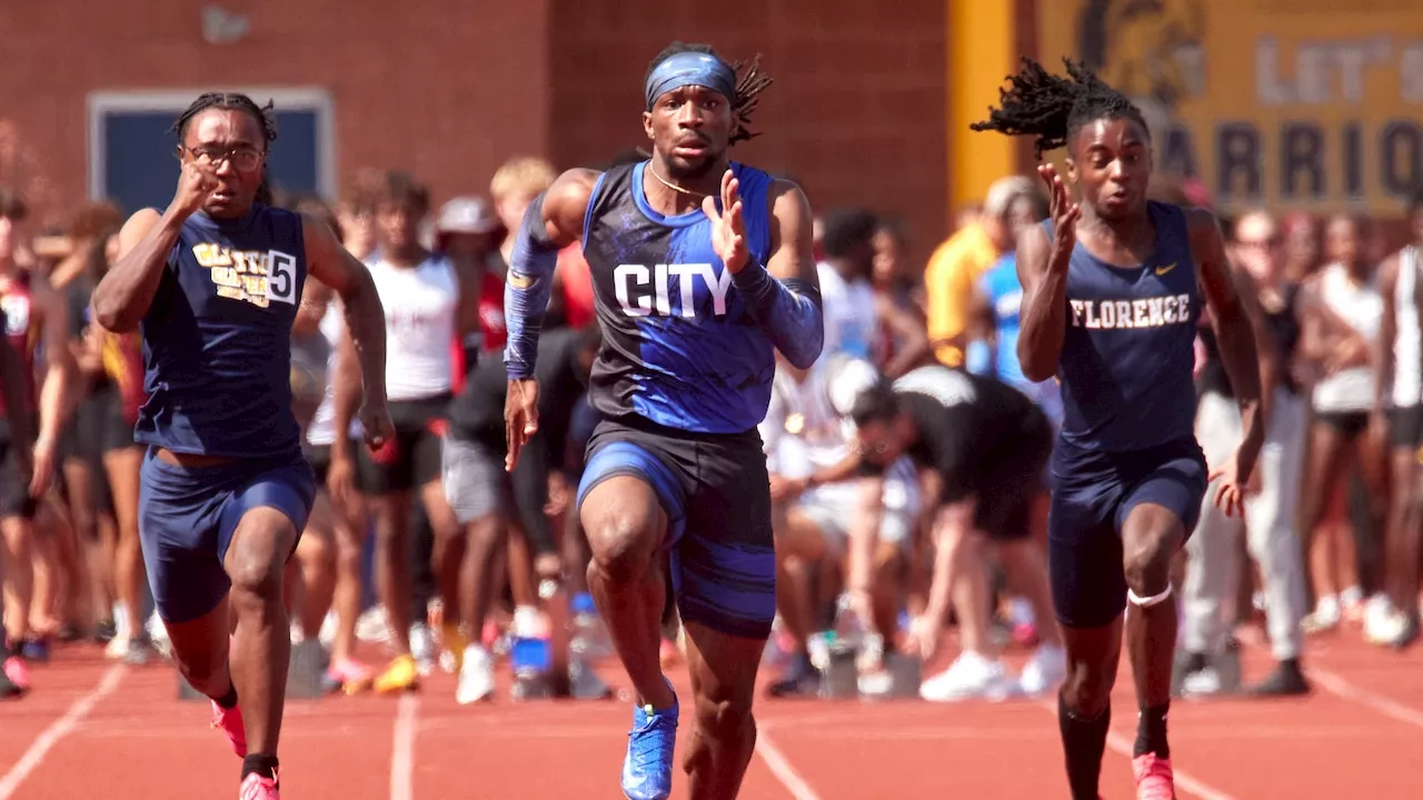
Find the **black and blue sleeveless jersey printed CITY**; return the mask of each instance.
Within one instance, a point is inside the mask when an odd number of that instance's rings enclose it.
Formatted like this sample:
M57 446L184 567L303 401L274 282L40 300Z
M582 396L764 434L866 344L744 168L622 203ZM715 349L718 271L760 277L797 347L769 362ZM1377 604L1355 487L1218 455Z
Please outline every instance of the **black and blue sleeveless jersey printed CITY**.
M603 343L589 400L613 419L638 416L692 433L746 433L766 417L774 352L712 251L700 209L663 216L643 194L645 164L609 169L593 186L583 258ZM771 178L731 164L751 258L770 258Z

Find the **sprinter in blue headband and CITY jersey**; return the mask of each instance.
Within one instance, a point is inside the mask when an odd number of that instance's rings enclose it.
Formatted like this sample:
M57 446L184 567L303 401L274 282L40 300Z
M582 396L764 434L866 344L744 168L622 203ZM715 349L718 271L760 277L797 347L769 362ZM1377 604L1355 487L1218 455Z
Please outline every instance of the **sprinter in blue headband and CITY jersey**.
M623 794L672 791L677 696L662 675L663 557L697 693L693 800L736 797L756 743L751 698L776 615L770 478L756 426L774 350L800 367L824 323L805 195L727 158L768 84L710 47L673 44L645 78L649 161L565 172L529 206L509 265L509 464L536 430L538 330L558 249L582 239L602 347L603 421L578 491L588 582L638 692Z

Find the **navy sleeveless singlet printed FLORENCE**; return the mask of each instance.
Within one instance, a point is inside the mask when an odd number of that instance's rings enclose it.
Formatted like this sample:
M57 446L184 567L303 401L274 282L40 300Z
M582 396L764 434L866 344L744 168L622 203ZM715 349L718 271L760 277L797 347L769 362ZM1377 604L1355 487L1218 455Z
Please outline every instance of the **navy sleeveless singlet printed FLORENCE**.
M1195 434L1195 323L1201 292L1185 212L1151 202L1155 252L1134 268L1107 265L1081 243L1067 273L1062 441L1124 453ZM1052 239L1052 222L1046 223Z

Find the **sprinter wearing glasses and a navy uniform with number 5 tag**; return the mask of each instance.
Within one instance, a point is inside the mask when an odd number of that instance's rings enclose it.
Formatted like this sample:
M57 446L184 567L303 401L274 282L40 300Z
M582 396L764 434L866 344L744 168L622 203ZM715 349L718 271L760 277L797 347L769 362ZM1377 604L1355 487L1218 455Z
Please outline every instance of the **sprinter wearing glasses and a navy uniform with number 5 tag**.
M124 225L94 316L142 333L139 540L174 660L243 759L242 800L276 800L292 648L282 572L316 494L292 413L292 322L307 273L340 295L364 367L361 426L379 446L384 313L330 228L269 205L270 105L205 94L174 131L178 191Z

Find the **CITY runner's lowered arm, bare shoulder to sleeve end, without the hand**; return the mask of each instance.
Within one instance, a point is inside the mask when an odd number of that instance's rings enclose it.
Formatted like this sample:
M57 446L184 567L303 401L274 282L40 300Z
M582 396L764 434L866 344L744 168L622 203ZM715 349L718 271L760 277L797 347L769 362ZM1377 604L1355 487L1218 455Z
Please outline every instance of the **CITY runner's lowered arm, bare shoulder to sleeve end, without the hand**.
M504 364L509 380L534 377L538 336L554 293L558 251L582 238L583 216L596 182L598 172L592 169L569 169L546 192L534 198L524 212L504 286L508 326Z

